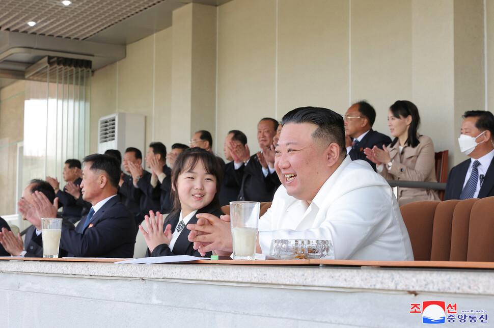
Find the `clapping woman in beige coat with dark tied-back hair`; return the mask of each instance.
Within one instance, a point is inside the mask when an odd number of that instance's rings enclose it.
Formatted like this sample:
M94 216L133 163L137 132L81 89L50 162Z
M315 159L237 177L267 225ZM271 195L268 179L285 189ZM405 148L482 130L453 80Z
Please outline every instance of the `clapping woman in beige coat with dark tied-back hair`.
M367 158L376 163L377 172L387 180L437 182L434 169L434 145L425 135L419 135L417 106L398 100L388 112L388 125L395 137L388 147L364 150ZM400 187L400 206L422 200L439 200L436 190Z

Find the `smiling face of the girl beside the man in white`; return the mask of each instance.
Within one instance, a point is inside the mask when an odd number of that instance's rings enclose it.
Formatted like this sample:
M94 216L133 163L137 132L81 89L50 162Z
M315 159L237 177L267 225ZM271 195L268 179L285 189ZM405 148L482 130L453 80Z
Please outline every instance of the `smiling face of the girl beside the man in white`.
M206 172L202 161L199 160L196 167L180 173L176 192L182 207L182 215L185 217L190 212L211 203L216 194L216 177Z

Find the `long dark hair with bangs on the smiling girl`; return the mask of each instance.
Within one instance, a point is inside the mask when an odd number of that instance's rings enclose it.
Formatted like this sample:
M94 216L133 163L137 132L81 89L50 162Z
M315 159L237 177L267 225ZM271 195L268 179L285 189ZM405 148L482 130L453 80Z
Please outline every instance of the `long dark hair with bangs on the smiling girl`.
M175 164L173 165L173 169L172 169L173 209L168 217L171 217L173 214L180 212L180 210L182 209L182 206L180 204L180 199L178 197L178 192L176 191L178 176L183 172L193 170L199 161L202 162L207 173L212 174L216 177L216 194L214 195L214 198L211 201L211 203L209 203L209 205L212 205L218 209L221 208L221 206L219 205L219 190L221 189L221 185L223 181L223 171L221 169L221 166L219 165L219 158L210 151L201 149L199 147L194 147L194 148L186 149L183 152L181 152L177 156L177 159L175 160Z

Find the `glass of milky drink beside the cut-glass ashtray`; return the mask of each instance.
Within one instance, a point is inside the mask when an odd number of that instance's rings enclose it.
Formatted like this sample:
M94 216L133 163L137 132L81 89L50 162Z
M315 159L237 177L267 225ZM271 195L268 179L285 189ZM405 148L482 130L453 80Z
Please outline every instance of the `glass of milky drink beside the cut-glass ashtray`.
M259 202L230 202L233 259L254 260L257 246Z

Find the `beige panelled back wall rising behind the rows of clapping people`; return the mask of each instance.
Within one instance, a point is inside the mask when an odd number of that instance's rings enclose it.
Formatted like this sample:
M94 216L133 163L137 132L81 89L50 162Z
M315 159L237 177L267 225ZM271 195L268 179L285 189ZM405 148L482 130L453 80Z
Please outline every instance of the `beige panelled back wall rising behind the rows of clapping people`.
M489 22L494 6L486 4ZM141 113L147 143L170 147L205 128L223 154L228 130L240 129L254 152L262 117L281 119L304 105L344 114L351 102L366 99L376 108L374 128L389 133L389 106L407 99L419 107L419 131L431 136L435 150L450 150L450 167L466 158L456 146L460 115L485 107L484 78L487 86L494 80L494 51L487 51L492 65L484 65L482 0L234 0L214 8L217 16L200 6L176 11L173 28L129 45L126 59L95 72L93 131L100 116ZM206 25L201 10L208 12ZM194 40L201 24L210 42L217 40L217 65L197 60L211 48ZM489 23L487 50L493 35ZM210 78L212 69L216 80L194 89L194 81L204 81L193 72ZM198 110L198 99L207 110ZM487 103L492 99L489 92Z

